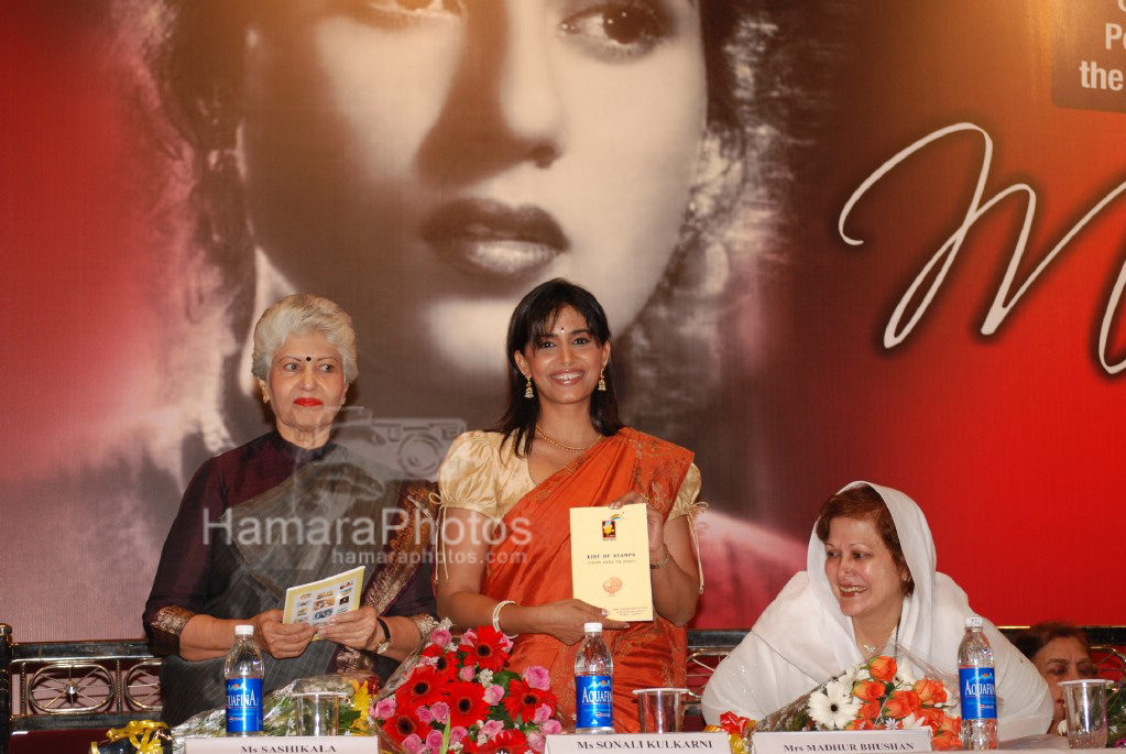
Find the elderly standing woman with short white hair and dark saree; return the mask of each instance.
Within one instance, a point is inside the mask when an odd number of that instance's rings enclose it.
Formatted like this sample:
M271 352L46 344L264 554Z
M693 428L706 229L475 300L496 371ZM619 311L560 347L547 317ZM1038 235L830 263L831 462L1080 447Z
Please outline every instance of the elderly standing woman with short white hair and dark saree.
M325 298L287 296L254 329L252 369L275 430L196 473L145 605L150 644L168 655L170 725L223 703L238 623L265 649L263 691L331 671L386 675L434 625L425 491L330 439L357 376L351 318ZM287 587L356 564L373 564L363 593L341 596L358 609L316 630L282 622Z

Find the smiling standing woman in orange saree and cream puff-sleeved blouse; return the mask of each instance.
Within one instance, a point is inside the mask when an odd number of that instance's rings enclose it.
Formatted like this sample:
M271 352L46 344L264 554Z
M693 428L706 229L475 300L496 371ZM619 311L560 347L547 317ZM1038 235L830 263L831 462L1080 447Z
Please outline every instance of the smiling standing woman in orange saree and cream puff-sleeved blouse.
M455 440L438 474L449 535L438 612L516 637L512 668L547 667L571 720L582 626L600 621L615 727L636 730L631 690L686 680L683 626L703 584L691 536L699 472L690 451L618 420L609 325L586 289L562 279L534 288L512 313L507 354L508 411L492 430ZM623 623L571 596L569 510L633 502L646 504L656 614Z

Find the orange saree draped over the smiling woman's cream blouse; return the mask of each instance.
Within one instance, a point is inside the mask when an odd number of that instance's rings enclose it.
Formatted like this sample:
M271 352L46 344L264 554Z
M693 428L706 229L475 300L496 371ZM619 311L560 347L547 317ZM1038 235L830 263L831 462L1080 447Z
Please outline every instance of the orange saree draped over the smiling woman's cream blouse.
M504 539L490 550L484 594L520 604L544 604L573 596L570 509L606 505L628 492L644 495L668 518L688 473L692 452L623 428L526 494L503 518ZM614 654L614 721L622 731L638 727L633 689L682 686L687 676L687 631L664 618L607 630ZM515 639L510 667L543 665L551 672L560 710L574 721L574 658L546 634Z

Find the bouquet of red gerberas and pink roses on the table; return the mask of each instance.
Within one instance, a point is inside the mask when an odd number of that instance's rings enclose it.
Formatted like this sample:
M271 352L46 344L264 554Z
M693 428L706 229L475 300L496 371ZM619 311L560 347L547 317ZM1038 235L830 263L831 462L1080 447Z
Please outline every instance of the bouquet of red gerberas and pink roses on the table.
M512 641L491 626L454 637L443 621L372 704L408 754L526 754L562 733L547 668L504 670Z

